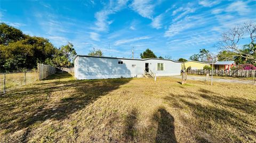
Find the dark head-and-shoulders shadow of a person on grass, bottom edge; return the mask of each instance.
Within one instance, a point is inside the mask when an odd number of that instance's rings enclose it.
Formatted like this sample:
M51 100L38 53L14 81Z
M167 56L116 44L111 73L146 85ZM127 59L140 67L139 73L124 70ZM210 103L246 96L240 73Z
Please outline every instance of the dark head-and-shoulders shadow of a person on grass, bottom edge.
M155 142L177 142L174 132L174 118L165 108L159 108L153 115L153 120L158 124Z

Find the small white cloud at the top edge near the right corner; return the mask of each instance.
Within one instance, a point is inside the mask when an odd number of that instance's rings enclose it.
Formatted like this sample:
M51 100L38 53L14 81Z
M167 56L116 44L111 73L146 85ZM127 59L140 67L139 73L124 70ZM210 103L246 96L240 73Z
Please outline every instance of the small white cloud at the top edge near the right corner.
M237 12L238 14L243 15L243 14L249 13L250 9L246 2L237 1L230 4L227 7L226 12Z

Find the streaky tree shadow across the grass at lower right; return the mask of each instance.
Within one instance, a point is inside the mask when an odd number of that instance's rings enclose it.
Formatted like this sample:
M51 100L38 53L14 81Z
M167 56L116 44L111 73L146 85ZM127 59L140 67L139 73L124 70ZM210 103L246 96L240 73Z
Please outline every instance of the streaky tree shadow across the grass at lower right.
M191 95L195 97L191 97ZM234 140L236 142L253 142L251 137L254 137L256 132L252 128L254 127L252 118L255 116L256 105L252 100L222 96L203 88L197 92L189 92L187 95L171 94L163 99L173 108L180 108L181 110L186 110L185 112L193 113L195 117L193 121L186 120L183 122L191 126L191 130L196 129L194 132L203 132L201 135L198 135L197 141L199 142L202 140L218 142L219 137L207 135L209 132L213 133L218 126L225 126L236 130L236 133L233 132L231 134L230 132L227 132L227 134L222 132L225 138L220 140L224 142ZM241 114L243 112L246 114ZM245 138L242 139L241 137Z

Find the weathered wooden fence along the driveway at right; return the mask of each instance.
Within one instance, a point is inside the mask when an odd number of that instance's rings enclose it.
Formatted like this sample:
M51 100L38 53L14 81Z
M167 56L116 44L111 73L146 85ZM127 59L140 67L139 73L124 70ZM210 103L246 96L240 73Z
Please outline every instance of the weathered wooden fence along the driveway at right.
M188 70L188 74L212 75L212 70ZM256 70L213 70L213 75L217 76L230 76L230 77L256 77Z

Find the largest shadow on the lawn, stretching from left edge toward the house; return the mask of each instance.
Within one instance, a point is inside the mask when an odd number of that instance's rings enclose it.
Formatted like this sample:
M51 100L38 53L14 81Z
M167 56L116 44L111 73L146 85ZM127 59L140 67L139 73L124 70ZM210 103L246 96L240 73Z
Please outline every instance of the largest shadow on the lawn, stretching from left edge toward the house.
M63 74L62 74L63 75ZM62 76L71 78L70 74ZM131 79L48 81L19 88L0 97L1 129L18 131L48 119L63 120Z

